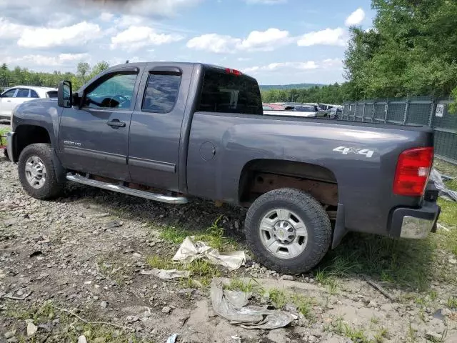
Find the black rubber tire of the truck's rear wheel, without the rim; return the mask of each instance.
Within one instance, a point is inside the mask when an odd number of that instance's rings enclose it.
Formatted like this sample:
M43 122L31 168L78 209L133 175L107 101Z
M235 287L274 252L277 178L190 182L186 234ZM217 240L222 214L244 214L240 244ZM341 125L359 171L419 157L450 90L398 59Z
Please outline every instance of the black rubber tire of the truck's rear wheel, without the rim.
M307 243L303 252L288 259L276 257L261 242L260 224L274 209L294 212L306 225ZM298 189L275 189L261 195L248 209L245 222L246 241L256 259L269 269L283 274L300 274L316 267L331 244L331 223L316 199Z

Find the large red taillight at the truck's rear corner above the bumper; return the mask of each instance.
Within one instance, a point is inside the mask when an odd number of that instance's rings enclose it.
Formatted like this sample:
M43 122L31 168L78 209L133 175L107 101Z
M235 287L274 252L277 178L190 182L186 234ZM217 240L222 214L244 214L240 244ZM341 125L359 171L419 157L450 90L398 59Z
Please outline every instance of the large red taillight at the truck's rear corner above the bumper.
M393 193L407 197L421 197L426 188L433 164L433 147L413 148L398 156Z

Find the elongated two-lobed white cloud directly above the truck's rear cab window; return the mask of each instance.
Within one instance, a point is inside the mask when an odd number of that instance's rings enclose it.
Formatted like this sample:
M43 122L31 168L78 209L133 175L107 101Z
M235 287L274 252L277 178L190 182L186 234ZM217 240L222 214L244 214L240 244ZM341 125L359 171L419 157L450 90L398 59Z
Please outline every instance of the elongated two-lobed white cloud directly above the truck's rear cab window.
M270 28L251 31L246 39L221 34L203 34L187 42L189 49L211 51L216 54L235 54L237 51L272 51L278 46L290 44L288 31Z

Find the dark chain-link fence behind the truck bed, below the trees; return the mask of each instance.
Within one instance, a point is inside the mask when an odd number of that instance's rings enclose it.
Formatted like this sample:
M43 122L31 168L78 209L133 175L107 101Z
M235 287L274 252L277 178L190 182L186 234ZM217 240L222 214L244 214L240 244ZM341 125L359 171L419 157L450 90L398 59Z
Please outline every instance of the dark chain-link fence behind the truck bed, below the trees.
M448 112L449 100L428 96L414 99L378 99L344 104L343 120L398 125L431 126L435 131L435 154L457 164L457 114Z

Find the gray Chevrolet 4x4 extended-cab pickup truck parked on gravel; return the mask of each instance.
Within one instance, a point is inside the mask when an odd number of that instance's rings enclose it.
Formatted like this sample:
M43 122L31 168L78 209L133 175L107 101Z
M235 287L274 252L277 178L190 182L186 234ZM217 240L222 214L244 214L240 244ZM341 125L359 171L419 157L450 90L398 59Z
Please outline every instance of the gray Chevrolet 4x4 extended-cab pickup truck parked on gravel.
M8 155L31 197L71 181L248 207L251 251L283 273L316 266L349 231L424 238L440 212L431 129L264 116L256 80L234 69L113 66L19 105L11 125Z

